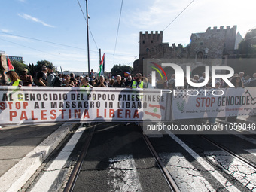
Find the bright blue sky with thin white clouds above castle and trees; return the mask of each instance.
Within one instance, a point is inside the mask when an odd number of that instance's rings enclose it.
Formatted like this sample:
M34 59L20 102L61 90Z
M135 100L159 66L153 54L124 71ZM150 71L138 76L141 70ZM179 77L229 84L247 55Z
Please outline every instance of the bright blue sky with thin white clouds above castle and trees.
M2 1L0 50L23 56L26 64L45 59L63 70L87 72L86 20L78 2L86 14L85 0ZM254 0L123 0L120 14L121 3L88 0L90 69L94 71L99 69L99 48L105 53L107 71L114 64L133 66L139 57L140 31L165 29L163 42L186 46L191 33L205 32L209 26L236 25L242 37L256 27Z

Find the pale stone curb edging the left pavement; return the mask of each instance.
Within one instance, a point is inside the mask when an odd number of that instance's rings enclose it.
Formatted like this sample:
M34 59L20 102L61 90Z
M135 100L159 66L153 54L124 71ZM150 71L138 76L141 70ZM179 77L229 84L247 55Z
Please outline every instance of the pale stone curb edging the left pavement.
M18 191L77 123L64 123L0 178L0 191Z

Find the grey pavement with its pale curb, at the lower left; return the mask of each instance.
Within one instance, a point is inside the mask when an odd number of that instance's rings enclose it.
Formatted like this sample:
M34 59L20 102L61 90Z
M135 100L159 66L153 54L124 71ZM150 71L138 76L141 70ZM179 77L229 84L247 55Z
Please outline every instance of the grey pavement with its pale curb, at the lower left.
M0 191L17 191L77 123L6 126L0 129Z

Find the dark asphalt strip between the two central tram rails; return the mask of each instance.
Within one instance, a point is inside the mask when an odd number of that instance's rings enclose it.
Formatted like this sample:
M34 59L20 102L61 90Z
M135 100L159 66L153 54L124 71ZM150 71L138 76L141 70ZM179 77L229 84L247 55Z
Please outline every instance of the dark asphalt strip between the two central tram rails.
M98 124L74 191L169 191L139 129Z

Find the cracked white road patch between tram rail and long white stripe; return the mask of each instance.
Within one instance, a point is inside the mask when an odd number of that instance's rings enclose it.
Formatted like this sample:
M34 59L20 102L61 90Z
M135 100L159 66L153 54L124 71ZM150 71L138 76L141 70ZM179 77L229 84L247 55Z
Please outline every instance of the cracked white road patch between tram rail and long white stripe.
M181 153L163 153L160 157L182 192L215 191L200 171L195 169Z

